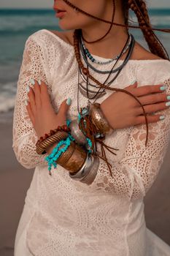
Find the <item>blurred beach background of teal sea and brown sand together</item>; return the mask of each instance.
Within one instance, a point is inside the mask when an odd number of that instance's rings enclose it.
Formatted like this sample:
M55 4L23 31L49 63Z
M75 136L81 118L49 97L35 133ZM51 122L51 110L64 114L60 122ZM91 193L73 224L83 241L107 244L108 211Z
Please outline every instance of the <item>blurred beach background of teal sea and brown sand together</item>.
M170 27L169 11L151 10L155 26ZM12 118L20 64L28 36L39 29L55 30L58 26L52 10L0 10L0 23L0 256L12 256L15 233L34 174L34 169L20 165L12 148ZM134 31L134 36L146 45L141 33ZM170 53L170 35L159 36ZM158 178L144 197L144 211L147 227L170 245L169 155L170 145Z

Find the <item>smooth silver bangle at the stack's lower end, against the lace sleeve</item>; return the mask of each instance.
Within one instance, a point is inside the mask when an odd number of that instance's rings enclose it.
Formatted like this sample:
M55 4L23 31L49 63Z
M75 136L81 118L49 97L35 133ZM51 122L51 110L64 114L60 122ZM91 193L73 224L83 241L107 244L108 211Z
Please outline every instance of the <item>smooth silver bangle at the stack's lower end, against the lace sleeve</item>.
M81 181L82 183L91 184L96 177L97 170L99 165L98 157L88 156L85 159L84 164L77 173L69 173L69 176L76 180Z

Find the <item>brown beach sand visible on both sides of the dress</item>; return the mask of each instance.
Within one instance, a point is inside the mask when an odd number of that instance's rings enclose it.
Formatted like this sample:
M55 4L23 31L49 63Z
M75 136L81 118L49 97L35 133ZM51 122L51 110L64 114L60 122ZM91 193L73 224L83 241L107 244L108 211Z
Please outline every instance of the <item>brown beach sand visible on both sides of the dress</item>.
M12 149L12 118L1 124L0 256L13 256L15 233L34 170L24 168ZM170 245L170 145L161 171L144 198L147 227Z

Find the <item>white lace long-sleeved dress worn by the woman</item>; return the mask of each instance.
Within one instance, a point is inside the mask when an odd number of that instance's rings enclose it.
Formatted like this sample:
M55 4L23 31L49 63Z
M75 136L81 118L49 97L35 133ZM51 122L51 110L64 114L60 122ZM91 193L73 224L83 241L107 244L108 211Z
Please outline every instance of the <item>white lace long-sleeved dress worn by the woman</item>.
M105 68L111 67L107 64ZM145 125L117 129L109 135L107 145L119 148L117 156L107 151L113 178L100 159L90 186L72 180L59 165L49 176L47 154L36 154L38 138L24 105L26 86L32 86L31 78L45 81L56 111L71 97L68 117L74 119L77 70L72 45L46 29L28 37L15 99L12 147L18 162L35 170L15 237L15 256L168 256L170 246L146 227L143 197L158 175L169 143L169 109L162 111L165 120L149 124L147 148ZM106 78L92 75L101 82ZM139 86L164 84L170 94L169 78L169 61L131 60L112 86L123 89L137 80ZM107 91L98 102L111 93ZM87 102L80 94L80 107Z

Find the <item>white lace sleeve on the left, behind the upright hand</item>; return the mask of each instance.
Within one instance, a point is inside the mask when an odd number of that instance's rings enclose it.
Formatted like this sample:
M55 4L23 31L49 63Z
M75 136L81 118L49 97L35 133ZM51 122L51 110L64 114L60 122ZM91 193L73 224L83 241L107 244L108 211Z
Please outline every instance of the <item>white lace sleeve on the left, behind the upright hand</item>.
M25 100L28 99L26 86L32 87L31 78L47 83L42 49L32 37L28 37L18 78L12 127L12 148L18 162L27 169L45 163L47 155L36 154L35 144L38 138L26 110Z

